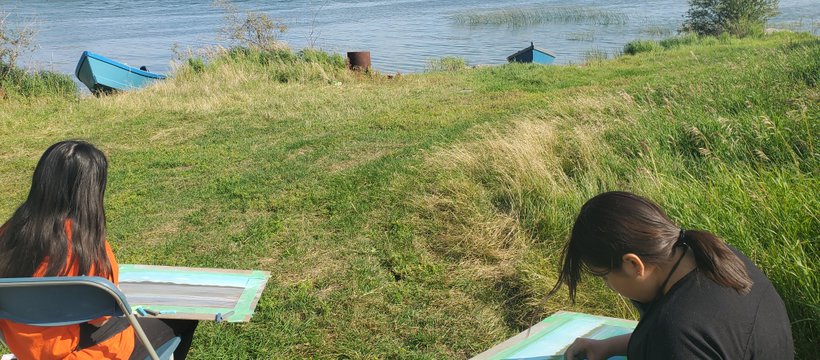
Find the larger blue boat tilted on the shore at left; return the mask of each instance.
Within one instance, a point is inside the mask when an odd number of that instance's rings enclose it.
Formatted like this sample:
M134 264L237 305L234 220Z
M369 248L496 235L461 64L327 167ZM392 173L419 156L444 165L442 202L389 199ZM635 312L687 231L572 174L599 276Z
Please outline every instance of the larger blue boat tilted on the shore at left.
M90 51L83 51L74 74L94 94L139 89L165 79L165 75L133 68Z

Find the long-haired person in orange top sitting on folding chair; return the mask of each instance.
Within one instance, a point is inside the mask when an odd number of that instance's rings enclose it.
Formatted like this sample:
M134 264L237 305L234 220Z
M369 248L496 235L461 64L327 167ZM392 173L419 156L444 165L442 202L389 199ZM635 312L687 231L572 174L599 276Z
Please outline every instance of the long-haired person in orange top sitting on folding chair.
M117 284L117 259L106 241L103 208L107 171L105 155L87 142L63 141L49 147L34 170L28 198L0 227L0 277L85 275ZM185 359L197 321L139 322L154 345L179 336L174 358ZM0 332L20 359L148 356L125 317L55 327L0 320Z

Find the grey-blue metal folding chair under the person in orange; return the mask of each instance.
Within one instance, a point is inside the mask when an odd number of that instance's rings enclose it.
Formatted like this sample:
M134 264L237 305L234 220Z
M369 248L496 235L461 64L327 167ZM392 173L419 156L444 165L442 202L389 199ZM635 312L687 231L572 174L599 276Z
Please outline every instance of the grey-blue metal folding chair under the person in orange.
M179 345L180 338L175 337L154 349L125 295L107 279L96 276L0 279L0 319L34 326L65 326L102 316L126 316L150 354L146 359L171 359Z

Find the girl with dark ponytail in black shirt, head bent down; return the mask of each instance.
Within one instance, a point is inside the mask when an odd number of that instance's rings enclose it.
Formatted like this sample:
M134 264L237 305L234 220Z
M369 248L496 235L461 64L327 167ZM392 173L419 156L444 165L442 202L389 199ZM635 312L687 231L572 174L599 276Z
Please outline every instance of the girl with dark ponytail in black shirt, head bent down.
M791 359L783 300L769 279L717 236L686 230L653 202L607 192L581 208L564 247L557 291L572 301L581 275L602 277L632 300L631 334L578 338L567 359Z

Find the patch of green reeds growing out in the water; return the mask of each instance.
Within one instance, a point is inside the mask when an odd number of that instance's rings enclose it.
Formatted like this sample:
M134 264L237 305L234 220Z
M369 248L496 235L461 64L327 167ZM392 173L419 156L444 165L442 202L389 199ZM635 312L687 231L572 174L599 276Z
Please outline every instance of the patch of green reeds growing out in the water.
M452 16L457 24L527 27L540 24L623 25L629 17L621 12L593 7L508 8L466 11Z

